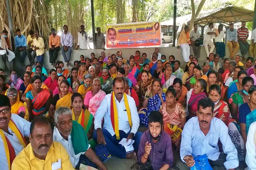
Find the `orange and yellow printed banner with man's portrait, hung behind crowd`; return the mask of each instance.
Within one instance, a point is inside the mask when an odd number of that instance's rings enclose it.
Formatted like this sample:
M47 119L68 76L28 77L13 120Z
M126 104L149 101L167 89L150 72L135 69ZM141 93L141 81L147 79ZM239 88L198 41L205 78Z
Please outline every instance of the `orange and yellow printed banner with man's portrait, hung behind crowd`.
M107 48L131 48L161 45L159 22L107 25Z

